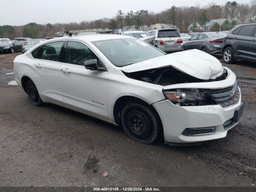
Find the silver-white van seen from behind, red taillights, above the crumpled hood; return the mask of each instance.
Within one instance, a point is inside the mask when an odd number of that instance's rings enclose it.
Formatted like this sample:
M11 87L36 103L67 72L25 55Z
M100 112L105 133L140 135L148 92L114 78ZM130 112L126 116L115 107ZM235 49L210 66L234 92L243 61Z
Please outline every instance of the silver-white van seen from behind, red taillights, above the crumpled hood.
M148 31L149 36L155 36L154 45L164 52L183 50L183 41L177 29L154 29Z

